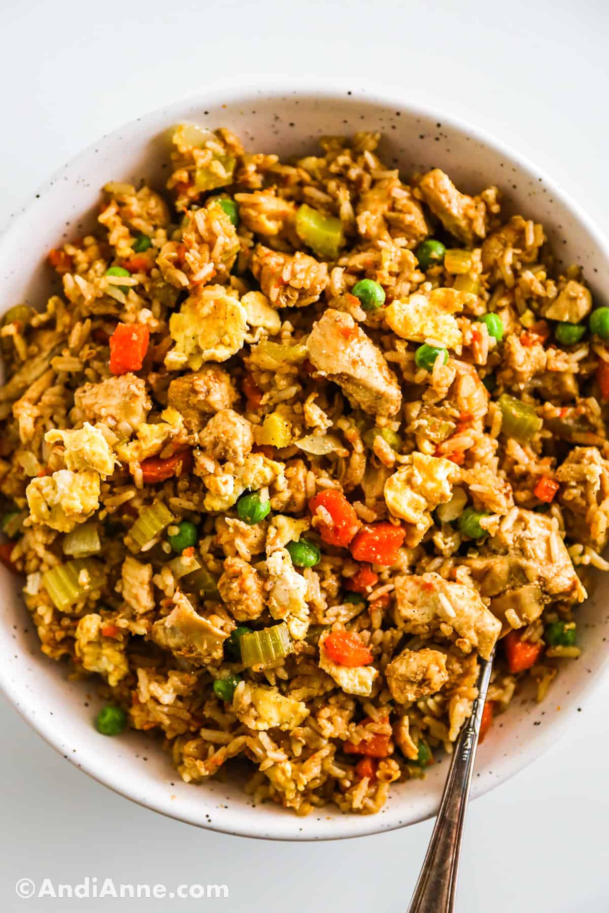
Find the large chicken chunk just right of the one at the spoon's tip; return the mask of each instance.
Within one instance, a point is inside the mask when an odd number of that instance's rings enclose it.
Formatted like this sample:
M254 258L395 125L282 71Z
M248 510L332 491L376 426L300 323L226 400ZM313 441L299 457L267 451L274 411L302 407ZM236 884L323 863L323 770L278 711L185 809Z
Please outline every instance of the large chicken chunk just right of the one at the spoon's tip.
M518 517L507 529L488 540L490 551L516 559L528 577L554 599L582 602L585 591L575 573L571 557L550 517L519 509Z

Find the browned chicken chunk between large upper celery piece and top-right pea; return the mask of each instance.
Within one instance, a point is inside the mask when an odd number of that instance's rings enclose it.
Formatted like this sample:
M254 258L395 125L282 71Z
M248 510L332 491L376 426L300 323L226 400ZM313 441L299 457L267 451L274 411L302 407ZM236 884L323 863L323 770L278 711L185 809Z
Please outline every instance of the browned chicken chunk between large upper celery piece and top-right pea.
M357 229L364 238L376 240L389 232L407 238L412 244L429 234L421 205L399 177L374 181L370 190L360 194Z

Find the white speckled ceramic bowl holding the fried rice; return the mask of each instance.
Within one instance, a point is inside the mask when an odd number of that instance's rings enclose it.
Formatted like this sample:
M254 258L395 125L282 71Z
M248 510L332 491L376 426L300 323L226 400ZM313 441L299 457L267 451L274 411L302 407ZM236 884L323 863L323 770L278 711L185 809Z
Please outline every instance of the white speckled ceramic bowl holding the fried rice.
M24 299L37 306L43 303L49 286L44 257L61 238L82 234L102 184L110 179L137 182L142 177L163 184L166 130L184 120L211 128L227 126L248 149L280 155L315 152L316 141L326 134L381 131L383 161L399 165L404 174L438 165L470 192L499 184L509 201L508 211L541 221L562 262L581 263L593 294L599 301L609 299L604 237L540 169L499 142L452 116L417 109L385 92L265 87L210 91L153 111L102 137L68 163L0 238L0 313ZM150 737L136 732L120 739L99 735L92 724L94 682L68 682L65 666L42 655L16 579L4 569L0 573L0 687L65 758L134 802L228 834L296 840L373 834L414 824L436 812L446 760L424 781L394 785L383 811L372 816L324 808L299 818L272 803L253 807L234 782L216 779L198 787L187 785ZM609 619L602 611L606 592L601 583L594 598L579 610L581 660L565 663L541 705L516 698L491 729L478 751L473 796L520 771L564 729L576 725L576 708L607 665L604 635L609 635Z

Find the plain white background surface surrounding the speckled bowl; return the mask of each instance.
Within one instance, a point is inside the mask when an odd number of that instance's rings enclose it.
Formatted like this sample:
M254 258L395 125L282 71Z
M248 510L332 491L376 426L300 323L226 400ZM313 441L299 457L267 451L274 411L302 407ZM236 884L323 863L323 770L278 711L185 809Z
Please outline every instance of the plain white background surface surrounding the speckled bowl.
M609 229L604 0L3 0L0 222L79 149L223 76L346 76L402 87L540 163ZM110 175L109 175L110 177ZM32 238L36 244L36 238ZM572 733L474 803L459 913L609 908L609 722L590 698ZM208 907L405 911L431 824L325 845L205 833L71 767L0 698L0 909ZM226 883L228 900L19 900L17 878Z

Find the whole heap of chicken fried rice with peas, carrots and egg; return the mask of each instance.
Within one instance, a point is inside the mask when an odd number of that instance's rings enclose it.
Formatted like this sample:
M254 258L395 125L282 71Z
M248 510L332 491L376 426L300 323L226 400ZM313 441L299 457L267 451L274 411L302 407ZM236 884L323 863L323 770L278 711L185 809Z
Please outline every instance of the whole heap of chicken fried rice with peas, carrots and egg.
M287 163L173 131L0 340L0 554L103 735L373 813L580 655L609 568L609 309L543 226L378 134ZM58 289L59 291L59 289ZM221 770L222 769L222 770Z

